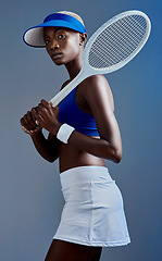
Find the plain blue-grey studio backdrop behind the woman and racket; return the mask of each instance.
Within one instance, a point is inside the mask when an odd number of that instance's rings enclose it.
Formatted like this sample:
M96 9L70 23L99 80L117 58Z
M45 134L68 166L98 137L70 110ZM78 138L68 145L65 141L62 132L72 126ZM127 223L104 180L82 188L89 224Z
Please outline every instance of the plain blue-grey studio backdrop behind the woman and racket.
M24 45L23 33L52 12L68 10L83 16L90 36L113 15L134 9L151 18L149 41L129 64L107 75L124 151L120 164L107 165L124 197L132 244L105 248L101 260L162 260L160 0L1 3L0 260L43 260L63 206L58 162L50 164L38 156L18 121L40 99L53 97L67 74L43 49Z

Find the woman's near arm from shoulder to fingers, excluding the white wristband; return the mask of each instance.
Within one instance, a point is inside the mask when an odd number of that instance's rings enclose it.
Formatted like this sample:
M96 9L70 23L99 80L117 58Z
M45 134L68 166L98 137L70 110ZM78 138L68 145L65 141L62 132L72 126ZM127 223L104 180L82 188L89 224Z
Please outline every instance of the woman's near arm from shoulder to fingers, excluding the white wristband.
M100 138L74 130L68 138L68 145L98 158L119 163L122 159L122 141L108 82L101 75L89 77L86 79L83 94L95 116ZM61 126L58 116L55 117L57 114L59 115L59 108L52 108L42 100L37 110L39 112L35 116L40 126L57 135Z

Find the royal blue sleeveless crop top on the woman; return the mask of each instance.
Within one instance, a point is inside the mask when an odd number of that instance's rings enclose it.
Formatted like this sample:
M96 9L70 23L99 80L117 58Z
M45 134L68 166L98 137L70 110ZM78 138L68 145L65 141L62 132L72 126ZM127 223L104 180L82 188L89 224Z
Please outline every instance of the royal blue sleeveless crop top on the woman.
M87 136L99 136L95 119L84 112L75 101L76 88L59 104L59 121L73 126L78 133Z

